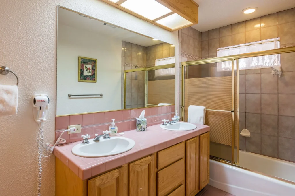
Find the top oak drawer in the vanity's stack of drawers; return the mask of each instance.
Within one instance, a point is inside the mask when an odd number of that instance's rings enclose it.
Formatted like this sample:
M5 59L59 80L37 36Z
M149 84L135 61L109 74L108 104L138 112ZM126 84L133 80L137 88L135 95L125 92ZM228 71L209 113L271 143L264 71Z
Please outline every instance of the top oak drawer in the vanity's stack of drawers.
M158 170L184 157L184 142L158 152Z

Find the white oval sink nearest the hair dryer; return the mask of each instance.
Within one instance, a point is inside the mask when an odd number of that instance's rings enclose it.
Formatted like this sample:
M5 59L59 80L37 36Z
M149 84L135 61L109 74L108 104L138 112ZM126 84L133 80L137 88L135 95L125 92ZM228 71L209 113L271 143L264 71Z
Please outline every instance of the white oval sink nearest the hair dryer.
M106 157L127 152L135 145L129 138L111 137L108 140L100 138L99 142L89 140L89 144L77 144L72 153L80 157Z

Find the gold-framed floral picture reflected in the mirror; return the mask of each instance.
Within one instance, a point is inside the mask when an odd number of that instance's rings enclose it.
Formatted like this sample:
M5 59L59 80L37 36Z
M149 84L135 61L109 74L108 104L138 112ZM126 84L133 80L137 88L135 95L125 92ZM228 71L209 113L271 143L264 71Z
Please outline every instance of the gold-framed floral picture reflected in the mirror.
M78 82L96 82L97 59L79 56Z

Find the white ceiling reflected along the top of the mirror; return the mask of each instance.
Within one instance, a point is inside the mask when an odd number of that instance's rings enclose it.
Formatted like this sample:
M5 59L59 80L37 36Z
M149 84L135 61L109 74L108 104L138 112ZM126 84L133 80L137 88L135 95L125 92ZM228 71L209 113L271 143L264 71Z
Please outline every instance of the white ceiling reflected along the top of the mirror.
M148 38L119 27L113 28L114 26L112 25L103 25L104 22L102 21L89 19L60 7L58 8L58 24L71 26L77 29L87 29L88 31L92 31L97 34L114 37L115 39L120 39L122 41L135 43L145 47L163 43L163 41L153 41L152 38Z

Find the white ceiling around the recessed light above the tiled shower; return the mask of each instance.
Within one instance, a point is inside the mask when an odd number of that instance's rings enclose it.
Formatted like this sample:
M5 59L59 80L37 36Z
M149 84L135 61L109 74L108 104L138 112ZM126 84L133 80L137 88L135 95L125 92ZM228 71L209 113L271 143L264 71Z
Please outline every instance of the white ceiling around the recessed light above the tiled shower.
M192 27L201 32L295 7L294 0L194 1L199 4L199 24ZM249 7L257 7L258 9L251 14L241 12L243 9Z

